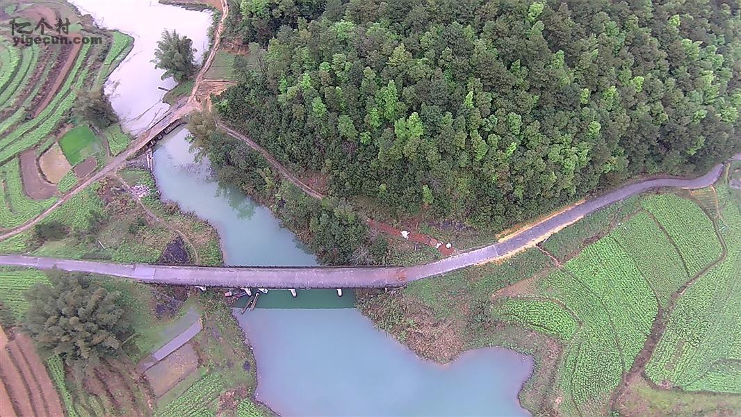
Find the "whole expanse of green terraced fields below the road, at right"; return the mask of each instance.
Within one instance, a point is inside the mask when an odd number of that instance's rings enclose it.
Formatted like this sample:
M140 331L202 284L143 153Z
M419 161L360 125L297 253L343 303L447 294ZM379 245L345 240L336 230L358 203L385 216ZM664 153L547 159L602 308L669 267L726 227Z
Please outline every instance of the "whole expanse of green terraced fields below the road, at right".
M606 236L496 300L497 321L564 341L559 413L608 414L664 326L645 365L657 389L741 393L741 213L727 187L718 196L722 216L675 194L644 197Z

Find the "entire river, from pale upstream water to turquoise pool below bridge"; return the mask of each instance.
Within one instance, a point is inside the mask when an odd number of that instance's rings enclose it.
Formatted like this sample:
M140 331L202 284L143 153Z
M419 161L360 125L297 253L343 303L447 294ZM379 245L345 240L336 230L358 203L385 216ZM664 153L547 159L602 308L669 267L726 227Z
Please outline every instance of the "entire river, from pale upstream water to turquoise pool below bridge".
M161 70L149 61L165 27L205 42L207 13L149 1L74 0L105 27L135 37L136 55L113 73L107 91L127 130L167 109L157 87ZM184 14L187 13L187 16ZM178 17L179 16L179 17ZM185 17L183 17L185 16ZM186 19L187 18L187 19ZM110 89L110 90L109 90ZM145 117L136 118L136 115ZM207 159L196 161L179 129L154 152L154 176L162 198L175 201L216 227L225 264L316 265L293 233L234 187L219 185ZM353 308L353 292L273 290L259 308L233 310L253 347L257 398L282 416L525 416L517 394L533 363L512 350L488 348L451 364L425 361L373 327Z

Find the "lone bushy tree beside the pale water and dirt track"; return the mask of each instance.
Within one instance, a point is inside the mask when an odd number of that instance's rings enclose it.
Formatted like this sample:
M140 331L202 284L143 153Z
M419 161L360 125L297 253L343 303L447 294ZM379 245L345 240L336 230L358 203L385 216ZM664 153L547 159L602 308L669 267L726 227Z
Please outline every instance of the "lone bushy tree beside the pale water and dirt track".
M154 51L155 67L165 70L162 79L173 77L175 81L182 82L196 74L197 68L194 63L193 41L187 36L180 36L175 30L162 32L162 40L157 42Z

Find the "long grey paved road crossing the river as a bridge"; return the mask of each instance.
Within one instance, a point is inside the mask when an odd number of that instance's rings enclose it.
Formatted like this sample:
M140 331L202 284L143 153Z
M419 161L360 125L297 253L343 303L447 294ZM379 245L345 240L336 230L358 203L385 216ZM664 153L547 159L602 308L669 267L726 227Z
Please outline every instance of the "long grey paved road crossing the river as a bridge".
M739 155L734 156L737 159ZM497 261L543 241L589 213L629 196L659 187L697 189L720 176L723 165L697 179L648 179L569 207L521 230L504 241L412 267L197 267L116 264L100 261L0 255L0 265L59 269L131 278L136 281L204 287L362 288L399 287L409 281L439 276L471 265Z

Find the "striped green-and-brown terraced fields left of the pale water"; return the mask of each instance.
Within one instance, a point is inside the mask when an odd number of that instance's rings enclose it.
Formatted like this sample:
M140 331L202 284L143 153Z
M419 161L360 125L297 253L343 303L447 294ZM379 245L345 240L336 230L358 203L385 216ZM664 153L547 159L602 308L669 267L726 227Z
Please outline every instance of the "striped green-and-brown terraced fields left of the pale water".
M99 30L91 33L92 29L82 24L70 4L62 1L41 4L10 1L4 7L6 14L0 21L0 230L38 216L76 186L75 174L65 176L57 186L44 176L38 160L21 161L19 156L24 152L28 156L28 150L35 150L36 156L40 156L64 132L75 127L78 121L70 116L79 91L100 87L133 46L130 36L114 32L104 34L102 44L16 47L11 40L10 19L35 21L39 16L59 13L70 16L73 30L69 37L102 36L102 33ZM130 139L118 125L109 130L103 134L113 139L114 149L110 153L120 153ZM70 158L75 160L72 165L82 156L79 152L70 153Z

